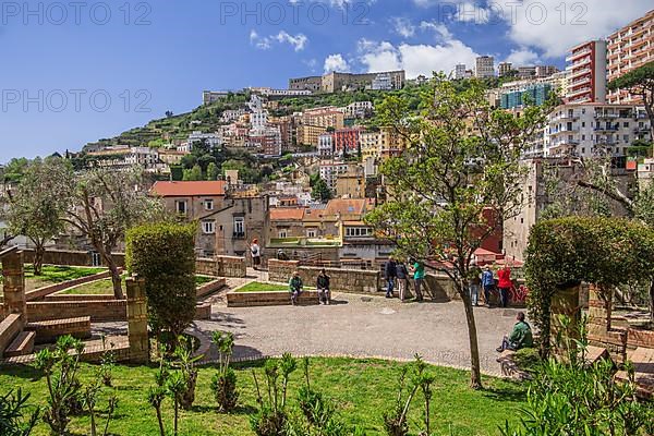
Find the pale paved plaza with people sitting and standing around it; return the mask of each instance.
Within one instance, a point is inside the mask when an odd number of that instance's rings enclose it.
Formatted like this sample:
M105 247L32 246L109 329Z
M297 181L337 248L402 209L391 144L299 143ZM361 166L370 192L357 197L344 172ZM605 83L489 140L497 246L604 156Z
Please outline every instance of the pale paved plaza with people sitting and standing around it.
M463 305L400 303L379 295L335 293L331 305L227 307L225 294L249 281L265 280L261 272L249 279L229 279L228 288L207 299L210 320L196 320L190 331L203 340L201 351L217 359L209 347L211 331L231 331L234 360L294 355L344 355L411 360L415 353L439 365L470 365L468 327ZM499 374L495 348L514 324L516 310L475 307L482 371ZM121 324L98 326L108 334L126 332Z

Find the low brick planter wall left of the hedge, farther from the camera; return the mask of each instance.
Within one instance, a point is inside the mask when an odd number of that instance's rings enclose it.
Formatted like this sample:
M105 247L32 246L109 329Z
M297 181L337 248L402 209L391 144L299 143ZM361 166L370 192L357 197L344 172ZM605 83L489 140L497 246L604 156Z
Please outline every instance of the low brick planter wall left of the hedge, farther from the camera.
M80 316L90 316L90 320L94 323L125 320L126 300L27 303L27 318L29 322L76 318Z

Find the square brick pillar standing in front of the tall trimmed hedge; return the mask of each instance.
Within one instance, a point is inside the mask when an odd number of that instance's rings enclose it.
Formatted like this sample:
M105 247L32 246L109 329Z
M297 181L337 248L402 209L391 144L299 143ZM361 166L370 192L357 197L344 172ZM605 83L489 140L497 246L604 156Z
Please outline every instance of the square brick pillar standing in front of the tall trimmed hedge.
M128 337L130 362L149 362L149 338L147 335L147 300L145 280L130 277L125 280L128 291Z

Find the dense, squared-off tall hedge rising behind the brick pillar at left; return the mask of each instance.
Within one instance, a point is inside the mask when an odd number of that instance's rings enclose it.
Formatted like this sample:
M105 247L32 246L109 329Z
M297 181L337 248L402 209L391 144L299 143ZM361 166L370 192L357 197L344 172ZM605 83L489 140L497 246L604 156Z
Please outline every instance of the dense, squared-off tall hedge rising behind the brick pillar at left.
M145 279L148 323L181 335L195 316L195 226L150 223L128 231L125 265Z

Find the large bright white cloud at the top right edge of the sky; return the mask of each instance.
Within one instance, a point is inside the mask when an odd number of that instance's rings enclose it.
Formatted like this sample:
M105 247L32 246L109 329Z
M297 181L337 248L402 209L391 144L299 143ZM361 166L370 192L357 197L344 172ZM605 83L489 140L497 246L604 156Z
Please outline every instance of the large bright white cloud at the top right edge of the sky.
M420 1L420 0L416 0ZM644 15L652 3L644 0L615 2L561 2L560 0L506 0L494 3L509 25L509 37L524 47L560 57L574 45L606 37ZM500 8L497 8L500 7Z

